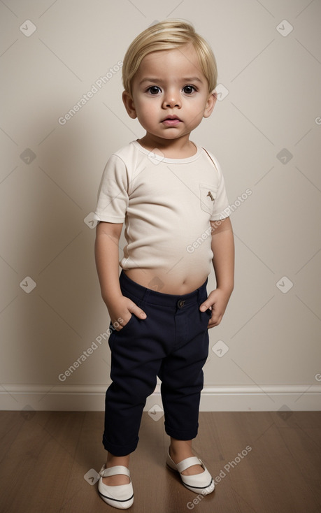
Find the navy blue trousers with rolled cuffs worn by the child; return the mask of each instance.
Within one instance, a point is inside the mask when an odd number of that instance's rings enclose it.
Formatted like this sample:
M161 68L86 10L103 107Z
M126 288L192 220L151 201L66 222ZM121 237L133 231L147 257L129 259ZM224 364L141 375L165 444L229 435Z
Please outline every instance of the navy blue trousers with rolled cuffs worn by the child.
M207 280L183 296L162 294L142 287L122 271L122 294L147 318L132 315L108 340L112 383L106 391L103 445L111 454L125 456L136 449L143 407L155 390L157 376L162 381L166 433L178 440L197 436L211 316L211 310L199 310L207 298L206 284Z

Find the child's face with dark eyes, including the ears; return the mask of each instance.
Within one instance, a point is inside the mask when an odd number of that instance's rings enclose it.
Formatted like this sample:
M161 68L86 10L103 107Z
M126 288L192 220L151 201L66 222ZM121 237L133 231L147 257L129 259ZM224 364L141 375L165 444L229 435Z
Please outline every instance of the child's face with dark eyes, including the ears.
M132 82L133 96L123 93L130 117L154 138L190 135L203 117L211 115L216 98L192 45L146 55Z

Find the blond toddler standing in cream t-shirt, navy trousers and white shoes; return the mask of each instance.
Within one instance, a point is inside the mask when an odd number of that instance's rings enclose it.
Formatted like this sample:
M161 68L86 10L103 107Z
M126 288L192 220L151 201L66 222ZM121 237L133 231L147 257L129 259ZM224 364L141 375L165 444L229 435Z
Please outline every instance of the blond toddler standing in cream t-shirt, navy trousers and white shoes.
M99 187L95 257L113 332L99 494L133 504L129 455L146 398L162 382L167 466L195 493L214 489L194 456L208 328L220 324L234 287L234 238L217 159L190 140L216 101L217 70L192 25L166 20L131 43L122 99L145 136L115 152ZM122 225L127 244L119 261ZM211 263L216 289L207 294ZM122 268L119 275L119 265Z

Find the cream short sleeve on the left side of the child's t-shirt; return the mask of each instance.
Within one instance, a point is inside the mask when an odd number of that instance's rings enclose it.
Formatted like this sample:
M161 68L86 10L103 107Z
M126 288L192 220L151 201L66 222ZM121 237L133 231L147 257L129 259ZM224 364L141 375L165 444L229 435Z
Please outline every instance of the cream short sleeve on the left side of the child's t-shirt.
M128 173L124 161L110 156L99 185L94 219L110 223L123 223L128 207Z

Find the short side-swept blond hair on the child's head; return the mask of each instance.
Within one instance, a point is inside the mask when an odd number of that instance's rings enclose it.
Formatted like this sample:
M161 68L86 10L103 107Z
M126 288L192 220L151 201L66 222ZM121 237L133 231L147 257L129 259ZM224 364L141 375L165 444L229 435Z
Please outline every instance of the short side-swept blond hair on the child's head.
M195 32L192 24L182 20L166 20L152 25L129 45L122 64L124 90L132 95L132 80L146 55L159 50L173 50L187 43L192 43L201 71L208 80L208 92L212 92L217 82L217 66L211 46Z

